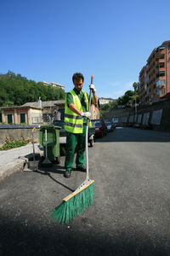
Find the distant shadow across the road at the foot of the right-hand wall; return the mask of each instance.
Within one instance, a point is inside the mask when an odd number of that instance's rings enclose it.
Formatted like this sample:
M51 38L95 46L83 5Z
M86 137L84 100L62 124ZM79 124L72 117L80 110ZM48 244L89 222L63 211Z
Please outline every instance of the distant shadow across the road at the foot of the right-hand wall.
M106 137L96 138L95 143L169 143L170 132L140 130L127 127L117 127Z

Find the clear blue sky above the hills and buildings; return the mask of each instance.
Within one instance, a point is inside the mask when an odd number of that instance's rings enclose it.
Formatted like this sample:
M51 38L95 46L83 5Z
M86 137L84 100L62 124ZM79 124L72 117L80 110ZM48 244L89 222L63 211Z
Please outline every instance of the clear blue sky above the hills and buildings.
M132 90L151 51L170 40L169 0L1 0L0 73L71 90L91 74L99 97Z

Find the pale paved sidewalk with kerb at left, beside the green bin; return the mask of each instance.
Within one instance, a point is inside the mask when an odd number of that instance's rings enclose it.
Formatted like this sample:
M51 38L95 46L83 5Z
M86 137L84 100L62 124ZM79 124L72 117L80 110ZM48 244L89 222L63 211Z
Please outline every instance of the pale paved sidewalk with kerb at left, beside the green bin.
M42 150L38 146L39 144L35 143L35 153L42 154ZM32 152L32 144L0 151L0 180L22 170Z

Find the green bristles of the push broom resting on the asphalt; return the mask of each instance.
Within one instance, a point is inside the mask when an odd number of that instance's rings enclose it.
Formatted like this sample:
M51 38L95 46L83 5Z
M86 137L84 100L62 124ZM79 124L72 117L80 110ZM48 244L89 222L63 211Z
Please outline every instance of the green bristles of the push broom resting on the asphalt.
M77 195L71 197L68 201L63 201L55 211L51 218L61 224L67 224L71 219L77 217L84 212L92 203L94 199L94 183L83 189Z

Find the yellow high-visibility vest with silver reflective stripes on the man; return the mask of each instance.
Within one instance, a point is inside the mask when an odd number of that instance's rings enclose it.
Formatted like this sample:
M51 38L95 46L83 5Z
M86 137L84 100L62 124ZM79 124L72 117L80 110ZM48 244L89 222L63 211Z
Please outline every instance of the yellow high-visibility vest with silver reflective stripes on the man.
M74 90L70 91L74 105L82 111L82 104ZM86 109L88 111L88 96L85 91L82 90L82 93L85 96ZM67 106L67 95L65 95L65 131L72 133L82 133L83 118L81 115L74 113L71 108ZM91 127L91 122L88 122L88 127Z

